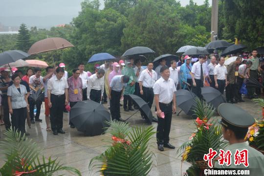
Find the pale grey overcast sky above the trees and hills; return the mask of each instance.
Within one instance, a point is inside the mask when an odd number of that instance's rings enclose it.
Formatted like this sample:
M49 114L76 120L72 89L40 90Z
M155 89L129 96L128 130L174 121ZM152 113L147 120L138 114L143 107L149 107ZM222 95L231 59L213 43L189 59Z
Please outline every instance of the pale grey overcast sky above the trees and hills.
M0 16L77 16L83 0L0 0ZM179 0L182 6L189 0ZM204 0L194 0L198 5ZM211 4L211 0L210 4ZM101 8L104 0L100 0Z

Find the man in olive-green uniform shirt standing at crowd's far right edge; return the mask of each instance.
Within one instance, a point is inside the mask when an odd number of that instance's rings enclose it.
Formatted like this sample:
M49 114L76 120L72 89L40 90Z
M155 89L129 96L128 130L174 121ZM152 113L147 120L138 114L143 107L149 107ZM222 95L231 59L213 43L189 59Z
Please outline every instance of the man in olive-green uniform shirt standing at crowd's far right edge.
M251 52L252 56L248 58L249 61L252 62L252 66L250 66L250 78L253 79L258 79L258 71L261 71L261 67L260 67L260 59L257 57L258 51L257 49L253 49ZM252 99L252 98L257 98L254 96L254 93L256 91L256 88L254 87L250 87L248 88L248 98Z

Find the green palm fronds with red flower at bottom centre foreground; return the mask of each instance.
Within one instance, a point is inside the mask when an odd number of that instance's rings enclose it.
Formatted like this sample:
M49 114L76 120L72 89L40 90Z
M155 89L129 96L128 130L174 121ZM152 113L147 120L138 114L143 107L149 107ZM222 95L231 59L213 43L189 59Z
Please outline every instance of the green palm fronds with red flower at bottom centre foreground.
M131 128L116 121L109 122L109 125L107 133L122 141L114 142L103 154L94 157L89 169L97 168L104 176L147 176L152 168L153 154L148 142L155 133L154 127Z

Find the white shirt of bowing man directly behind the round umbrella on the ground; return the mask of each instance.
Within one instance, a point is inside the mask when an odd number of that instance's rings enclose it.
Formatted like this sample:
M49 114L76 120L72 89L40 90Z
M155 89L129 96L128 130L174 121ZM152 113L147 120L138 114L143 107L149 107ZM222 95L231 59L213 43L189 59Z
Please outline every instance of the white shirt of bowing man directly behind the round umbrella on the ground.
M103 76L102 78L98 78L97 73L91 75L88 79L88 84L87 84L87 98L90 99L91 89L101 90L101 96L103 96L104 88L105 88L105 77Z

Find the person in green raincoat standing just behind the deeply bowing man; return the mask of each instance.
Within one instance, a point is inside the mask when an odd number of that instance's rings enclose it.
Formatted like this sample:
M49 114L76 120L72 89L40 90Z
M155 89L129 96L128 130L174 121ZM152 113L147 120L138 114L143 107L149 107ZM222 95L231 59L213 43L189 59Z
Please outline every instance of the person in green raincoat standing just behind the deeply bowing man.
M126 75L129 77L128 85L125 87L124 91L124 110L134 110L132 109L132 98L129 96L129 94L133 94L135 91L135 72L132 68L134 64L134 60L126 60L127 65L125 68L122 69L122 75Z

